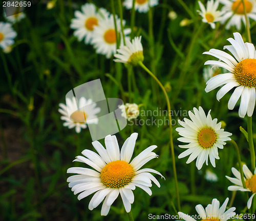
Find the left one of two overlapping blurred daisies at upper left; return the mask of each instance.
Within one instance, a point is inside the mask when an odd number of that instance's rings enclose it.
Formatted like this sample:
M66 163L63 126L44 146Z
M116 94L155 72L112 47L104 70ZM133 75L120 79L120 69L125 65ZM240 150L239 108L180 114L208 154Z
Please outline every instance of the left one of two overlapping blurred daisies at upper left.
M98 26L99 21L109 16L109 12L100 8L98 11L94 4L86 3L80 11L75 11L75 18L71 20L71 28L76 29L74 35L85 43L90 43L93 38L93 30Z

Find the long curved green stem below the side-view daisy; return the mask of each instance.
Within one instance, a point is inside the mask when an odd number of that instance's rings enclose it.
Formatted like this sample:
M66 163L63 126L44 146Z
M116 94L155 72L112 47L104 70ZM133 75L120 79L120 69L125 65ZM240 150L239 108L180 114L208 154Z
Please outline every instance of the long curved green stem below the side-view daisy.
M139 65L150 74L150 76L155 79L155 81L158 83L158 85L161 87L165 100L167 103L167 109L168 109L168 118L169 118L169 129L170 129L170 152L172 154L172 161L173 161L173 172L174 172L174 181L175 181L175 188L176 188L176 195L177 195L177 204L178 204L178 210L181 211L180 207L180 196L179 196L179 188L178 188L178 179L177 179L177 172L176 172L176 164L175 164L175 154L174 154L174 142L173 142L173 127L172 127L172 115L170 110L170 102L167 95L167 92L162 85L162 83L158 80L158 78L152 73L141 61L139 62Z

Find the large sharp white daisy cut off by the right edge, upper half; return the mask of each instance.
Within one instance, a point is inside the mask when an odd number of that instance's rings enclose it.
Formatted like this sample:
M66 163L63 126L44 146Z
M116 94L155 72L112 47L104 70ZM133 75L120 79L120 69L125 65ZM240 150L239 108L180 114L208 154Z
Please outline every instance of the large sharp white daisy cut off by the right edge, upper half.
M244 43L242 36L238 32L233 33L233 35L234 39L227 39L232 45L226 45L224 49L231 52L234 57L216 49L203 53L223 61L209 60L204 63L205 65L211 64L227 69L227 73L217 75L206 82L205 91L209 92L224 85L217 93L217 100L219 101L228 91L236 87L229 99L228 109L232 110L241 96L239 116L244 117L246 113L248 116L251 116L255 106L255 48L251 43Z

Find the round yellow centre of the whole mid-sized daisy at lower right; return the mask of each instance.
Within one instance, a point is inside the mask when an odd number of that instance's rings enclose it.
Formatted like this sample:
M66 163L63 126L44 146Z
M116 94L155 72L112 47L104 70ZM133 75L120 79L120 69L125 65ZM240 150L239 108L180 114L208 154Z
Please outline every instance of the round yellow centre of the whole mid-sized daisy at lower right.
M198 134L198 142L202 148L210 148L216 141L216 133L211 128L204 128Z

